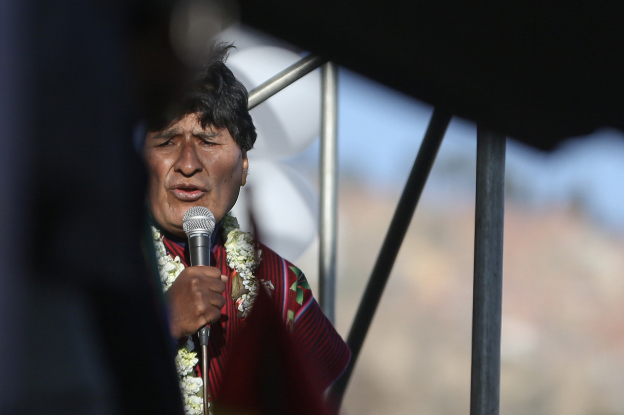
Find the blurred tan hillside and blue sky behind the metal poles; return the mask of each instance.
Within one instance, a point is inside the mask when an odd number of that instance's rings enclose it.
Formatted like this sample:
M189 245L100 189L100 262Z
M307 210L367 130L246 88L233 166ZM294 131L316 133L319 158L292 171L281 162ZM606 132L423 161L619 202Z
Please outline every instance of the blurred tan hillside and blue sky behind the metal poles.
M302 52L249 30L223 37L240 51L273 45ZM341 69L337 328L345 338L431 112ZM502 414L624 414L623 138L595 131L552 153L508 140ZM318 145L278 160L317 189ZM475 125L455 118L344 414L468 413L475 159ZM267 162L254 163L252 151L250 178ZM318 292L318 237L289 259Z

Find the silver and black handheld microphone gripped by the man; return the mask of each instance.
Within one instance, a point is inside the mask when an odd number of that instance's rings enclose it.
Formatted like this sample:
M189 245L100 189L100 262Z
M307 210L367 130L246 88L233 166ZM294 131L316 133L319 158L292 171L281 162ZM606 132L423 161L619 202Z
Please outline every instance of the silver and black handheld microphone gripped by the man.
M188 254L192 267L210 265L210 237L215 230L215 215L203 206L188 209L182 218L182 229L188 237ZM208 415L208 340L210 326L197 332L202 346L203 413Z

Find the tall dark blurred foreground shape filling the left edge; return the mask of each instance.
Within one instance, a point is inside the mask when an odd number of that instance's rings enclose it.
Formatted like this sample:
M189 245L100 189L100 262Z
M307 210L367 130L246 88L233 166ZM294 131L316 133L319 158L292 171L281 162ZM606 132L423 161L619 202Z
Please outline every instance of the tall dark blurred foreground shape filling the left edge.
M184 83L169 14L158 0L0 3L3 415L183 411L131 144Z

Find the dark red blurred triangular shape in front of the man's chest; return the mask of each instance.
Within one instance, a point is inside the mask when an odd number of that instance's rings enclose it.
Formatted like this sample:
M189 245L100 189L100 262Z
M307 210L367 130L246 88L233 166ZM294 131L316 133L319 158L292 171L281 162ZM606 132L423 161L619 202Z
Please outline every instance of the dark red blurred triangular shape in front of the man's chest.
M320 381L264 288L233 342L215 415L328 415Z

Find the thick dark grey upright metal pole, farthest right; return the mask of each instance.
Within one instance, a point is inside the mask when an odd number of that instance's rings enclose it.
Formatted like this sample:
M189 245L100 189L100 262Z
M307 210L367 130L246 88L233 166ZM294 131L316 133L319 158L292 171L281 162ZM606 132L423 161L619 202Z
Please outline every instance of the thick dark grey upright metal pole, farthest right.
M498 415L505 136L477 127L470 415Z

